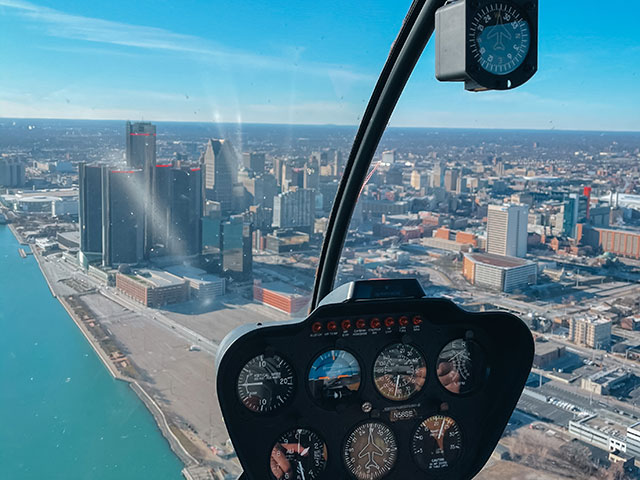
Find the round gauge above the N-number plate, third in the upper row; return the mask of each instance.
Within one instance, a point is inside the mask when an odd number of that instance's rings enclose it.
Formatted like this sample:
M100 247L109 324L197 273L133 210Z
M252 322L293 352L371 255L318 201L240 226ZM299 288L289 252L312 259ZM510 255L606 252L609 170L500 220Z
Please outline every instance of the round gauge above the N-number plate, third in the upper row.
M398 343L386 347L373 365L373 380L380 394L388 400L408 400L422 390L427 378L427 364L417 348Z

